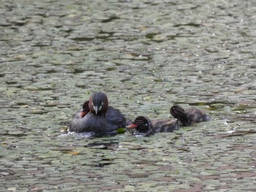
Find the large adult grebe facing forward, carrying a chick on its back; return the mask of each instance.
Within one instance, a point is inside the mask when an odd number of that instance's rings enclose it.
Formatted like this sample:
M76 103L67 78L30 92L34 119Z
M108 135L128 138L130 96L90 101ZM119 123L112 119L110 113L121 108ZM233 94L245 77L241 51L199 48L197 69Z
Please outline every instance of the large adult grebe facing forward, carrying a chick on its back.
M69 131L76 133L93 132L99 134L116 133L118 128L124 128L126 118L117 109L108 107L108 97L105 93L93 93L89 101L72 119Z

